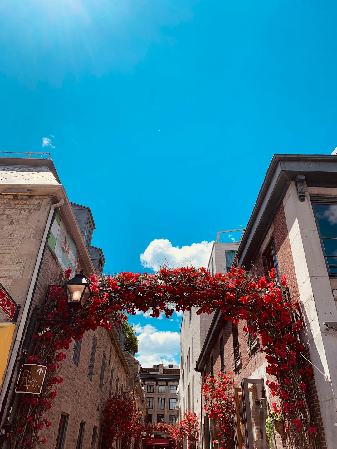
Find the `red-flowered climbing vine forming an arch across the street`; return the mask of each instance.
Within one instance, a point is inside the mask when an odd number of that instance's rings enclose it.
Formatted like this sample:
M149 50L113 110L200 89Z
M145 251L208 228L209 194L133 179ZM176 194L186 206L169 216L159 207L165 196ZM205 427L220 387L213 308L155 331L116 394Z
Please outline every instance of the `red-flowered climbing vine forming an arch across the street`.
M48 381L36 404L28 398L27 403L21 401L18 405L12 448L35 445L40 440L36 429L40 431L39 427L44 425L42 418L51 403L53 385L62 382L58 377L59 362L65 357L62 350L69 347L71 339L80 339L84 332L98 326L111 327L111 314L121 311L136 314L141 310L150 312L152 317L159 317L161 313L170 317L174 311L192 307L197 314L212 313L220 308L225 319L235 324L240 320L250 323L244 329L252 332L254 337L260 336L261 351L267 360L266 372L275 376L275 381L268 381L268 385L271 394L278 397L284 416L285 449L315 448L316 428L312 425L306 401L306 380L313 373L311 367L302 369L299 363L304 349L298 338L302 329L299 306L291 304L285 296L284 276L279 285L273 269L270 280L268 282L266 277L250 279L244 270L234 267L225 275L218 273L215 276L205 269L194 268L163 268L155 274L122 272L99 279L92 276L93 296L77 313L75 325L69 327L50 322L50 332L36 336L33 357L38 357L49 367ZM62 289L54 289L51 296L53 300L46 305L46 316L68 317ZM273 407L278 407L276 402Z

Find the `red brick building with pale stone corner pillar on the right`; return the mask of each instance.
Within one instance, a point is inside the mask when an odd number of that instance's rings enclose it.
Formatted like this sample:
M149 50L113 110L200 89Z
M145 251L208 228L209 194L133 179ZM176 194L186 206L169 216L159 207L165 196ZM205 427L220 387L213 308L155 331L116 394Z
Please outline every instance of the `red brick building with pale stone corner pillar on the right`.
M288 279L291 300L301 304L300 338L315 365L308 399L319 449L335 448L337 438L336 211L336 156L275 155L236 255L238 265L258 277L275 267ZM214 313L196 367L202 378L221 369L233 372L239 448L254 449L267 447L265 418L272 399L259 340L244 333L245 325ZM214 447L216 429L207 416L203 433L205 448ZM275 447L283 447L277 432Z

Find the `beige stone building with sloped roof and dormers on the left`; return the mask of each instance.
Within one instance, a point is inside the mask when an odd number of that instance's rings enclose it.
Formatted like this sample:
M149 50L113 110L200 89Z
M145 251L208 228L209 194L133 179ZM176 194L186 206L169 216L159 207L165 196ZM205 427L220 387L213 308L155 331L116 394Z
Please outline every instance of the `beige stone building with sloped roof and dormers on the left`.
M89 209L77 206L84 212ZM14 388L31 348L27 329L41 330L43 324L38 328L36 318L43 312L49 286L62 284L68 268L73 275L82 268L87 275L95 272L89 254L94 225L93 220L88 222L92 229L85 234L51 159L0 159L0 283L18 310L13 323L3 308L0 312L1 341L4 330L8 332L6 325L13 328L10 346L0 348L1 360L7 361L0 379L2 429L4 424L13 423L22 398ZM97 268L102 271L102 267ZM74 341L62 362L61 374L64 381L58 385L49 411L52 425L44 429L44 447L99 448L102 408L110 391L125 389L130 374L119 327L98 328ZM9 442L4 441L5 448Z

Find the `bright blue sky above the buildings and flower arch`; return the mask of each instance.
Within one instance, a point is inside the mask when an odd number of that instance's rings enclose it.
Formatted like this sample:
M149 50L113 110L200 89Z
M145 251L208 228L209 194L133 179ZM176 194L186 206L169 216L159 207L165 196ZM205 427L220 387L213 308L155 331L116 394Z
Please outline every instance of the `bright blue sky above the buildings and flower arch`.
M106 270L141 271L155 239L244 226L273 154L337 146L336 20L324 0L2 2L1 150L50 151Z

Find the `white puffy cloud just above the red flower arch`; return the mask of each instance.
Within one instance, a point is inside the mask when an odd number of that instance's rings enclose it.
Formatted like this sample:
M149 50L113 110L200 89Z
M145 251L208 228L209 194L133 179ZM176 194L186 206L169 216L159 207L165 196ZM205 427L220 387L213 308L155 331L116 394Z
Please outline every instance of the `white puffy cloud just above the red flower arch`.
M195 268L207 268L212 246L213 242L201 242L179 248L173 247L166 238L156 238L149 243L140 260L143 267L154 271L165 263L172 267L191 264Z

